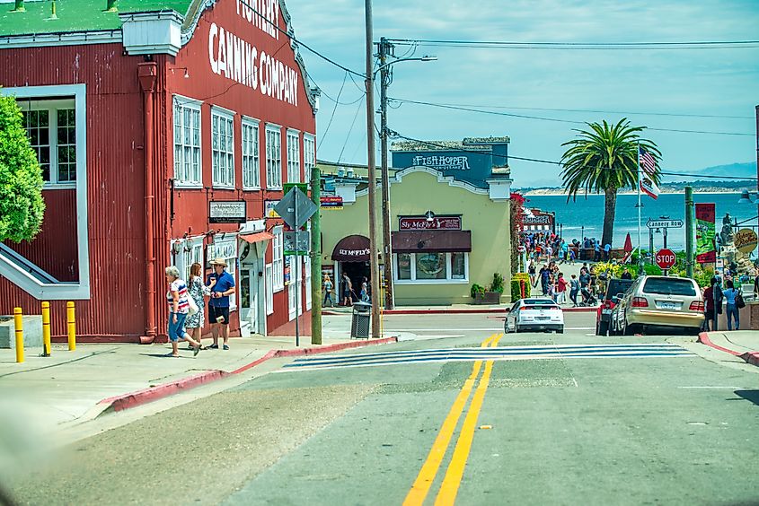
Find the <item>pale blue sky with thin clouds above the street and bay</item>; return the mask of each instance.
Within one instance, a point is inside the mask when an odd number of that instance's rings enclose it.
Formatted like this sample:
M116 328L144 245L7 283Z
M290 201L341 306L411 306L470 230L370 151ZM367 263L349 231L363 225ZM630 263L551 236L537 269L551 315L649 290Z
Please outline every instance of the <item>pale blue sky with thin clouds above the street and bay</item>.
M358 73L365 63L364 2L290 0L296 38ZM374 3L374 38L516 42L683 42L759 39L759 0L382 0ZM410 51L407 54L407 51ZM300 49L322 90L317 114L319 160L366 163L364 84ZM397 56L437 61L393 65L390 97L478 106L579 124L510 118L391 103L388 126L423 140L507 135L509 153L560 160L583 122L630 118L649 130L667 170L753 161L759 104L759 44L753 48L546 50L401 46ZM339 100L336 106L334 100ZM379 107L378 94L375 107ZM397 108L397 109L393 109ZM514 108L535 108L514 109ZM537 109L592 109L568 112ZM625 114L620 114L620 112ZM718 115L694 118L646 113ZM379 158L377 158L379 160ZM510 160L516 187L558 184L559 167Z

